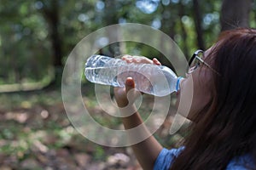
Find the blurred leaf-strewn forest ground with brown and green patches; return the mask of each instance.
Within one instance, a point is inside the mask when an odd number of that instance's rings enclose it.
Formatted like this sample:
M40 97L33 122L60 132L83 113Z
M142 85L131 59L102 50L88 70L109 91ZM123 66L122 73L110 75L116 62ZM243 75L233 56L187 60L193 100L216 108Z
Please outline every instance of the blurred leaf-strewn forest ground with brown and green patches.
M0 102L1 170L141 169L130 147L102 146L78 133L67 118L61 90L0 94ZM89 105L95 117L104 117L98 107ZM166 147L176 147L183 139L181 133L168 134L171 120L166 119L154 134ZM120 122L105 123L121 126Z

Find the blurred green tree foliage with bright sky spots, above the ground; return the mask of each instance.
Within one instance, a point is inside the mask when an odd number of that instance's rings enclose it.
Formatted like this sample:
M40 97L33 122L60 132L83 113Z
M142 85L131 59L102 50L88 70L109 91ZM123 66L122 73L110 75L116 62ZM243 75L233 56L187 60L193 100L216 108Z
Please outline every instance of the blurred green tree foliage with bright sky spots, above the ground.
M200 2L202 36L210 47L220 31L222 1ZM252 4L255 9L255 4ZM51 12L50 12L51 11ZM252 10L251 26L255 24ZM186 55L197 47L195 9L191 0L2 0L0 4L0 83L38 82L49 76L55 60L52 24L55 12L61 38L62 64L74 46L92 31L116 23L133 22L154 26L172 37ZM148 57L152 54L137 44L127 48ZM148 51L148 53L147 53ZM189 56L188 56L189 57Z

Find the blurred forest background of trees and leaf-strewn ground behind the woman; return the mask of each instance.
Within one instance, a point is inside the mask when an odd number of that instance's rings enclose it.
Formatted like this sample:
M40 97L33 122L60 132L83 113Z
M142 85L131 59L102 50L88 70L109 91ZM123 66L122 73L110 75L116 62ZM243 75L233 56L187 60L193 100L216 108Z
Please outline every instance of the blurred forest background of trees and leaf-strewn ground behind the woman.
M189 59L196 49L209 48L221 31L255 28L256 3L0 0L0 169L140 169L129 148L94 144L80 135L61 99L63 67L75 45L102 27L123 23L166 33ZM157 56L167 65L153 49L137 43L127 48L131 54ZM112 56L120 53L114 44L99 46L99 51ZM83 78L83 92L88 94L90 89L93 84ZM84 101L97 122L120 126L116 119L104 116L93 93L88 96ZM154 134L168 148L175 147L185 133L170 136L166 132L171 123L166 121Z

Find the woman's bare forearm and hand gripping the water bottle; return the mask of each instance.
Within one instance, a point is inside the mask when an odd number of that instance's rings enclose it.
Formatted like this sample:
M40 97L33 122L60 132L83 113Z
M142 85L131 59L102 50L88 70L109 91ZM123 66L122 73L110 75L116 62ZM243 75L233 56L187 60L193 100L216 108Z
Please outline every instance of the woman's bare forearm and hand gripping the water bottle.
M153 65L160 65L157 59L147 59L146 57L137 57L125 55L124 59L128 63L148 63ZM125 88L114 88L114 95L119 105L122 115L122 122L125 129L131 129L140 126L137 133L131 133L134 131L126 131L129 141L135 141L138 138L148 136L142 142L132 144L131 147L137 156L137 160L140 162L143 169L153 169L154 161L160 154L160 150L163 147L158 143L154 136L148 131L147 127L143 124L143 119L137 112L135 105L133 105L139 93L135 90L136 84L131 77L127 77L125 81Z

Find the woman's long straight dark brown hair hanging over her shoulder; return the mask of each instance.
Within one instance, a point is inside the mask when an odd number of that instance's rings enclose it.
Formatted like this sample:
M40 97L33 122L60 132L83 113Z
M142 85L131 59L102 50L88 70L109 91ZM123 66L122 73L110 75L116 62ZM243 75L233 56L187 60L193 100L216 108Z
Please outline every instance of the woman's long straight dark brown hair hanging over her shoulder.
M212 100L194 117L171 169L225 169L245 154L256 162L256 31L224 31L207 58L221 76L213 74Z

